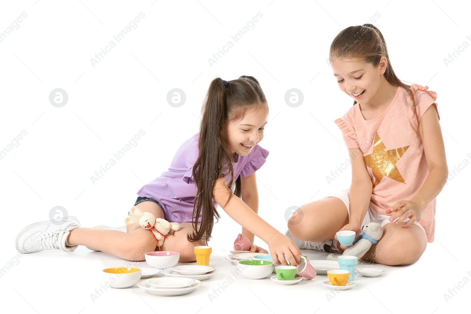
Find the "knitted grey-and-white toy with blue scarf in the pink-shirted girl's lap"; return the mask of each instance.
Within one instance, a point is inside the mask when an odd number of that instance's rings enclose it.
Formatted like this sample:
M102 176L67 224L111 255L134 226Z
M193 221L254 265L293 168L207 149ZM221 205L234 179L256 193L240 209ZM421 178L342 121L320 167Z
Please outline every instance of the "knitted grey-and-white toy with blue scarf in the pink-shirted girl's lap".
M347 248L342 255L356 256L358 260L370 250L373 244L378 243L382 237L382 227L376 222L370 222L361 228L362 233L358 234L357 240L353 242L353 246ZM338 255L329 254L327 260L336 261Z

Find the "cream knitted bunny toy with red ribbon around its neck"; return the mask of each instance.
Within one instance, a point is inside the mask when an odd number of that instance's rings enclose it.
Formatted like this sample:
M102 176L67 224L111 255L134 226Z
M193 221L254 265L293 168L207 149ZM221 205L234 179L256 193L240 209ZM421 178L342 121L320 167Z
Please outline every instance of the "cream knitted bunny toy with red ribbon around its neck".
M151 213L143 213L138 209L136 206L131 207L129 211L131 216L126 217L124 219L124 222L126 225L130 224L135 224L138 223L143 227L144 229L150 229L152 232L152 235L155 238L155 241L157 241L157 245L159 246L159 251L160 247L163 244L163 238L167 239L165 236L170 232L170 230L179 230L180 229L180 224L177 222L168 222L165 219L162 218L157 218L155 219L155 216L152 215Z

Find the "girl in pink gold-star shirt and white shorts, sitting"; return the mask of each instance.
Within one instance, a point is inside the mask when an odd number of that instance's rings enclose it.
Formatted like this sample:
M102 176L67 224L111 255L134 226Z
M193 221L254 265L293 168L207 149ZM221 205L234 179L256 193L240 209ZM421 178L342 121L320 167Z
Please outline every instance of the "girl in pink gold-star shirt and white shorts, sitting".
M286 235L300 249L344 251L337 231L358 235L363 225L378 222L383 236L363 259L414 263L433 242L436 197L448 177L437 94L398 79L386 42L371 24L341 31L329 61L340 90L354 99L335 120L349 150L352 182L301 206Z

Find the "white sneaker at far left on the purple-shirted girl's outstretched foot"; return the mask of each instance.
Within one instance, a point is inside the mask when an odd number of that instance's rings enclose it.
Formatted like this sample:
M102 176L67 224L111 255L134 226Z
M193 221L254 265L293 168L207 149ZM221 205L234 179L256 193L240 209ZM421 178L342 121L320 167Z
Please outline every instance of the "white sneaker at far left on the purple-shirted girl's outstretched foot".
M50 220L37 222L25 227L16 237L16 250L20 253L32 253L42 250L63 250L73 252L78 245L66 246L70 231L80 228L75 217L64 217L62 224L56 225Z

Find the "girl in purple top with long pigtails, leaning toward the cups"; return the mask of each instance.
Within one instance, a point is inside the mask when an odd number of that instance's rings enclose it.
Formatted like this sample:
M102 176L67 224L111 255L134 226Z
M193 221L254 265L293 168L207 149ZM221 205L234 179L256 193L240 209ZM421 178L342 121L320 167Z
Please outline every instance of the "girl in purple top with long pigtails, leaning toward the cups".
M211 81L200 132L185 141L168 171L138 191L134 206L155 218L180 223L167 234L160 250L180 253L179 262L195 261L193 248L207 245L219 204L242 226L253 243L254 235L268 244L276 264L300 262L300 250L284 234L260 218L255 172L265 163L268 151L261 148L268 119L268 103L259 82L252 76ZM108 228L82 228L75 217L27 226L16 238L22 253L41 250L72 252L79 245L128 260L145 260L156 250L150 230L138 223L126 232ZM252 252L268 253L252 244Z

